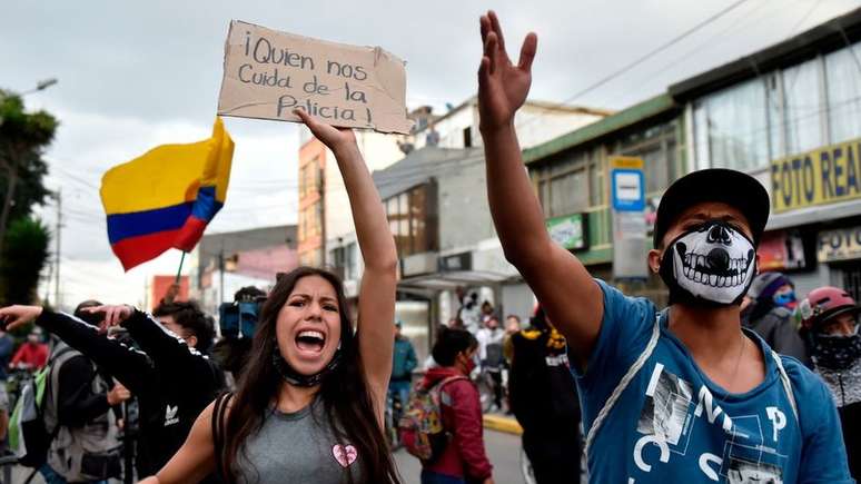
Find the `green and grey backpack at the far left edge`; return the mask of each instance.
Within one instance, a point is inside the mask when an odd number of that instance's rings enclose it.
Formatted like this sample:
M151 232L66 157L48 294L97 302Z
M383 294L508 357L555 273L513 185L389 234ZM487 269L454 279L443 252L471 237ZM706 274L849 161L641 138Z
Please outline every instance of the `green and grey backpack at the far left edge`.
M14 452L21 465L38 468L48 460L48 448L60 426L57 425L49 432L44 425L46 387L55 362L71 350L72 348L66 347L58 352L21 388L21 395L9 421L9 448Z

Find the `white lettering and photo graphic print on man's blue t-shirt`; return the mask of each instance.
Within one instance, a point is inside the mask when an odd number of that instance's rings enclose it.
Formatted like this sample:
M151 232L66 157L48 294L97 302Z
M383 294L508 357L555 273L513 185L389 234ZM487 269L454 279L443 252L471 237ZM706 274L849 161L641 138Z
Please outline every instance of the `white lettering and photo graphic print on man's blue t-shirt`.
M699 427L697 427L697 424ZM666 371L657 363L645 391L645 401L637 422L642 434L633 450L634 464L649 473L653 465L666 464L673 458L689 456L689 444L694 432L720 429L723 448L696 456L702 474L713 482L783 483L786 456L778 452L780 431L786 426L783 412L765 408L765 415L730 416L715 402L706 386L694 391L693 385ZM659 450L657 462L647 462L647 448ZM654 461L654 451L649 452ZM633 482L633 478L630 481Z

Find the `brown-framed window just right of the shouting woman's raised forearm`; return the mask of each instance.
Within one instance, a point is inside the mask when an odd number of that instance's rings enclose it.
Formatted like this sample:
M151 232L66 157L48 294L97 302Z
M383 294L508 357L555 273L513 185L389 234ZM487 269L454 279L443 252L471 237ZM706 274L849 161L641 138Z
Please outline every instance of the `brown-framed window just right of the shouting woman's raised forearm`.
M384 203L400 257L437 249L433 186L425 184L412 188Z

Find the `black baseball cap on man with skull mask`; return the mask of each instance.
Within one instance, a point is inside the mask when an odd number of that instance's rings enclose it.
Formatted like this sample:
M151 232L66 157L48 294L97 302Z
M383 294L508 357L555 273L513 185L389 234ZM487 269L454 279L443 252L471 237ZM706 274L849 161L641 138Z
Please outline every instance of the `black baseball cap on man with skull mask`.
M675 180L661 197L652 244L655 248L684 210L704 201L721 201L744 214L758 244L769 221L769 192L752 176L725 168L692 171Z

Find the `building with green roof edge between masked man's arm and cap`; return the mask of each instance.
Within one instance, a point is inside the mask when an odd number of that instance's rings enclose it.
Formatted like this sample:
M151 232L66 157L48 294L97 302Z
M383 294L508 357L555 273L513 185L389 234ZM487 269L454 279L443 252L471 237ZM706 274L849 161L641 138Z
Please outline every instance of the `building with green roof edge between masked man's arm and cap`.
M614 279L611 161L614 157L643 160L643 217L646 230L651 230L661 194L687 170L682 112L669 95L661 95L524 151L548 229L565 225L571 227L568 234L580 234L556 241L576 255L595 277L659 303L666 300L666 292L657 277ZM644 244L641 254L651 248L649 241ZM642 265L646 265L644 256Z

